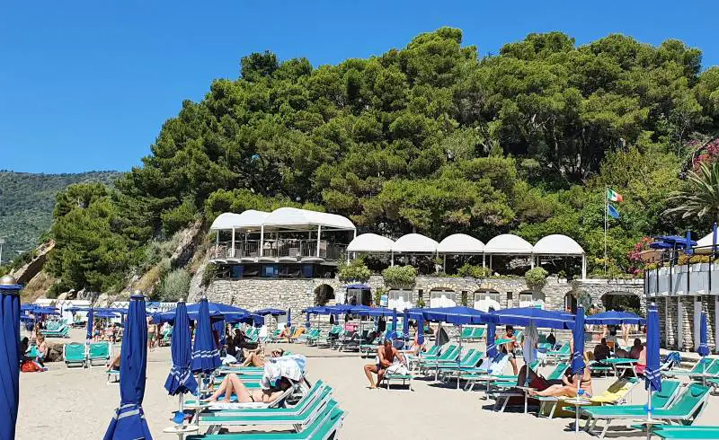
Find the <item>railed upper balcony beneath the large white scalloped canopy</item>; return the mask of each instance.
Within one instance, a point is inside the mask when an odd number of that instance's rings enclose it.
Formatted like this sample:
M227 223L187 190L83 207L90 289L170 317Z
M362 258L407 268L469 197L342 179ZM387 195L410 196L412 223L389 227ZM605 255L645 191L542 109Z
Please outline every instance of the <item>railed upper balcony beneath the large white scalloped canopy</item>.
M217 242L210 253L210 260L283 260L292 262L307 258L321 258L323 260L339 260L347 250L346 244L338 244L321 240L317 249L316 240L266 240L260 252L259 240Z

